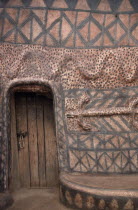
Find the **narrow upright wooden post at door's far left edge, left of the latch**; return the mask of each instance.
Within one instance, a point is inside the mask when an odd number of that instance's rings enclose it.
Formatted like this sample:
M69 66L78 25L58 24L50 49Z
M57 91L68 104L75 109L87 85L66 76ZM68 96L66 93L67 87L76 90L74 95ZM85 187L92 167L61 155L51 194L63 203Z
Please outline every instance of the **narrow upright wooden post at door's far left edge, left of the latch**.
M11 95L11 180L10 189L15 190L20 187L19 163L18 163L18 145L16 135L16 115L15 98Z

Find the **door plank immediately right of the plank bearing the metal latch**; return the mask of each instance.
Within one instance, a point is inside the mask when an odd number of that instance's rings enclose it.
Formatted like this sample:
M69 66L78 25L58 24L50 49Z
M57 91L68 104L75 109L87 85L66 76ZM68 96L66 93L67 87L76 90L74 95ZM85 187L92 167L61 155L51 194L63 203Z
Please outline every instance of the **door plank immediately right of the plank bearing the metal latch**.
M31 187L39 186L37 145L38 142L35 100L36 98L34 94L29 94L27 96Z

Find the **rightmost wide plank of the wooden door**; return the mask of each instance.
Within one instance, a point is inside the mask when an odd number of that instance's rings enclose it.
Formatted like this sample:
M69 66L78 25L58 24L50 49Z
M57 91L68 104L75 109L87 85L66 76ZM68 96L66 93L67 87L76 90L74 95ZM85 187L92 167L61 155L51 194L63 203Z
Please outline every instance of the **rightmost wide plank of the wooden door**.
M52 187L58 184L58 161L53 103L50 99L44 100L44 125L46 147L46 181L47 186Z

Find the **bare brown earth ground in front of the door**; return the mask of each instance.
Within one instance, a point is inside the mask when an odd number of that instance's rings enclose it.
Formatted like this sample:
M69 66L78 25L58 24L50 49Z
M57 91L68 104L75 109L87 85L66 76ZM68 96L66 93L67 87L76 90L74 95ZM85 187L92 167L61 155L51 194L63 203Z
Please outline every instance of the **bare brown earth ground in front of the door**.
M14 192L8 210L66 210L59 201L58 189L22 189Z

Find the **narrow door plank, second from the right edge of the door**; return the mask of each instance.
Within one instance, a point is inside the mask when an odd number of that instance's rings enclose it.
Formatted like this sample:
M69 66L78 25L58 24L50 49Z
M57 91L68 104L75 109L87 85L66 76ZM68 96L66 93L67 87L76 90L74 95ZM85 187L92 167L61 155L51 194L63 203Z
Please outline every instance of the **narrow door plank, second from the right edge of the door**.
M44 107L43 97L36 96L37 106L37 138L38 138L38 167L39 167L39 179L40 187L46 187L46 165L45 165L45 137L44 137Z

